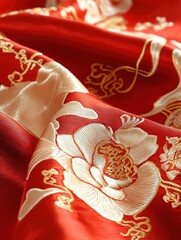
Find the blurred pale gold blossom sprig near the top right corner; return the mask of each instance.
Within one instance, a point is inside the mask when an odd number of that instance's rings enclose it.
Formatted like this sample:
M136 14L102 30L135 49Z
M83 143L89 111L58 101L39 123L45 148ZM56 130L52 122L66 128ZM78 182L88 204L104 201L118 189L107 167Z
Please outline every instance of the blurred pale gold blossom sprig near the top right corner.
M147 30L149 28L152 28L155 31L160 31L168 27L173 27L173 22L167 22L167 19L165 17L156 17L156 23L151 22L138 22L136 26L134 27L135 31L143 31Z

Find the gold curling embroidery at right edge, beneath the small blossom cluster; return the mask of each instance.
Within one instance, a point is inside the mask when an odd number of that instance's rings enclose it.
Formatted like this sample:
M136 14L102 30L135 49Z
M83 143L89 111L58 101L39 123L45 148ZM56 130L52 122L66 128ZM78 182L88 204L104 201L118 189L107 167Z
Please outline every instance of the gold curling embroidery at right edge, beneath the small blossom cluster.
M165 189L163 200L166 203L170 203L173 208L181 206L181 185L161 179L160 186Z

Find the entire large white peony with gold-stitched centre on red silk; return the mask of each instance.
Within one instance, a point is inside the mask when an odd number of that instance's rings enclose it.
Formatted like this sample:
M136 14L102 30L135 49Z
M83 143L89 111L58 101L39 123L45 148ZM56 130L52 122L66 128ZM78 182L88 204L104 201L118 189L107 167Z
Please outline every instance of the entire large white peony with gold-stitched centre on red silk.
M65 186L116 222L146 208L160 184L158 169L146 161L157 151L157 137L135 127L138 119L123 116L115 132L93 123L73 135L57 136L57 145L67 154L60 162Z

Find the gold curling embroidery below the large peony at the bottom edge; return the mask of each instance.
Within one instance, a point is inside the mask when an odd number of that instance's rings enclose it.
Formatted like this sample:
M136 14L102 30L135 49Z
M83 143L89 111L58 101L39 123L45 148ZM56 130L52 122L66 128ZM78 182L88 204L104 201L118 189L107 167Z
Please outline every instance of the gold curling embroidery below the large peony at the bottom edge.
M151 232L150 219L148 217L137 217L133 216L135 221L122 220L120 225L123 227L128 227L129 230L121 235L124 237L131 237L131 240L139 240L145 238L147 233Z

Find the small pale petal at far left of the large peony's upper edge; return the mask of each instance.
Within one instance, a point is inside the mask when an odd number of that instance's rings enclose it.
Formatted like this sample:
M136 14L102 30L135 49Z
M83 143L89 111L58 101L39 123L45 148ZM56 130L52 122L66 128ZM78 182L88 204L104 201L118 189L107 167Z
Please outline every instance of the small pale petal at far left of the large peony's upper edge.
M82 157L82 154L78 147L76 146L72 135L62 134L57 136L58 147L71 157Z

